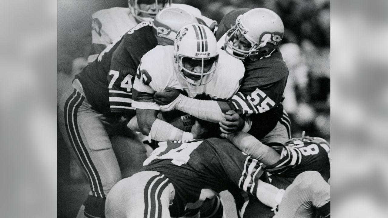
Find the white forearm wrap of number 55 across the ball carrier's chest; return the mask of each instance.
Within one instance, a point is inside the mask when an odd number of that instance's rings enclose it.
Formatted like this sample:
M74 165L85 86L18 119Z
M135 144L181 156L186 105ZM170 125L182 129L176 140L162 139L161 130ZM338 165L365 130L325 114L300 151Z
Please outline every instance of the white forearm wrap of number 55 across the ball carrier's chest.
M175 109L191 114L196 118L203 119L212 123L218 123L222 120L222 111L217 101L198 100L186 97L182 94L178 97L180 100L175 105Z

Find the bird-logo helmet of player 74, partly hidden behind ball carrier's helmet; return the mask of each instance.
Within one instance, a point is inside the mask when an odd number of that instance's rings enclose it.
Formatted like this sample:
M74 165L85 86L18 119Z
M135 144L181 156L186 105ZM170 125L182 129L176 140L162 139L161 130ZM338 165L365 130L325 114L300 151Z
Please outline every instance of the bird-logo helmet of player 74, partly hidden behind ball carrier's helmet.
M180 8L166 8L156 14L152 24L154 34L159 45L173 45L177 32L187 24L198 23L189 12Z

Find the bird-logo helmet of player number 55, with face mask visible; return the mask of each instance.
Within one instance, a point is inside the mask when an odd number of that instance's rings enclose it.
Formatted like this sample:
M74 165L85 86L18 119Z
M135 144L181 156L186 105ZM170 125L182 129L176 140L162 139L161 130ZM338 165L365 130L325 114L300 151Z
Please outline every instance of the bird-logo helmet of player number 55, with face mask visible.
M251 48L242 50L233 45L239 31L251 43ZM282 19L275 12L265 8L255 8L240 15L236 25L227 31L225 51L241 60L249 55L263 57L270 55L279 45L284 35Z

